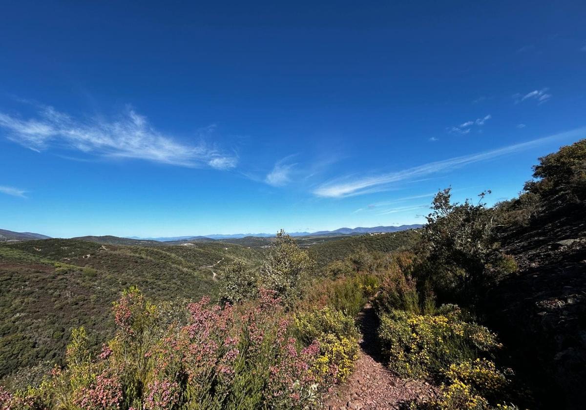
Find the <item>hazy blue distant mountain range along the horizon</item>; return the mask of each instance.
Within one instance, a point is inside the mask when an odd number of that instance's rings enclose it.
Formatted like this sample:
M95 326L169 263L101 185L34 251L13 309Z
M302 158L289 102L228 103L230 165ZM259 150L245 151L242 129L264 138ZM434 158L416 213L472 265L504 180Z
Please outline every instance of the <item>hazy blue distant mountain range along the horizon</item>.
M336 230L320 230L318 232L289 232L291 236L325 236L325 235L362 235L363 233L378 233L378 232L398 232L406 229L418 229L421 228L418 223L413 225L401 225L401 226L374 226L373 228L339 228ZM234 233L231 235L213 234L206 236L162 236L162 237L139 237L129 236L129 239L138 240L156 240L159 242L172 242L176 240L205 240L205 239L240 239L247 236L254 237L273 237L274 233Z

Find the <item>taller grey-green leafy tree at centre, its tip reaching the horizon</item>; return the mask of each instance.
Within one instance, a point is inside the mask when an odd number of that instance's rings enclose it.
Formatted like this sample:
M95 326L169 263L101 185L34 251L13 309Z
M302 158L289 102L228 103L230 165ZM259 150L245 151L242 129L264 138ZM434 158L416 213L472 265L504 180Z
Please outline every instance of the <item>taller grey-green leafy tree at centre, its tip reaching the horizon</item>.
M301 295L302 284L313 265L309 254L299 249L295 240L281 229L264 260L263 287L277 292L284 304L291 306Z

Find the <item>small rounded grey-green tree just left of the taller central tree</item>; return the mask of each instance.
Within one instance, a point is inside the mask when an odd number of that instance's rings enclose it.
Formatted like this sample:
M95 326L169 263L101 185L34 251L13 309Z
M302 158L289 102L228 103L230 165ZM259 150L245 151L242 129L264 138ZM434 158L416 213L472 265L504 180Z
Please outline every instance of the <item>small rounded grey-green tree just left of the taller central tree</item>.
M252 299L258 293L257 274L248 269L244 261L237 259L224 267L220 285L220 301L235 304Z

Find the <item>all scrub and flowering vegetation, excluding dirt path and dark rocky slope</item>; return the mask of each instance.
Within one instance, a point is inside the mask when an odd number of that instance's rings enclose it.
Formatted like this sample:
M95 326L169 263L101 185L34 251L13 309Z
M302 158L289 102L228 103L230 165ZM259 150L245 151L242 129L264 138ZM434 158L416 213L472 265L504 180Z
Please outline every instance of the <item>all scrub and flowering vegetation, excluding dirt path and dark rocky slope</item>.
M12 338L3 338L3 358L12 357L14 341L18 352L35 352L38 340L27 337L43 305L56 312L76 306L97 321L73 329L63 361L54 350L52 371L29 378L26 387L11 381L0 400L9 409L319 408L352 374L360 340L354 318L371 302L386 366L437 388L435 397L418 397L406 408L539 406L507 366L506 346L482 321L479 305L489 290L516 275L517 262L500 243L503 235L584 211L585 147L581 141L541 158L536 179L512 201L489 208L487 191L478 201L458 204L448 188L435 196L424 229L311 249L283 232L262 253L218 243L147 248L46 240L0 246L0 266L11 273L2 276L3 294L12 292L2 299L10 301L2 306L3 317L11 317L2 335ZM135 265L148 270L138 274ZM108 273L112 267L116 276ZM107 305L122 286L110 319L84 310ZM66 300L76 301L71 306L62 302L68 291ZM196 302L176 303L184 295ZM35 298L40 302L32 316ZM111 332L100 332L108 320ZM63 340L66 329L56 326L52 337ZM35 337L47 337L40 330ZM6 369L40 359L17 357Z

